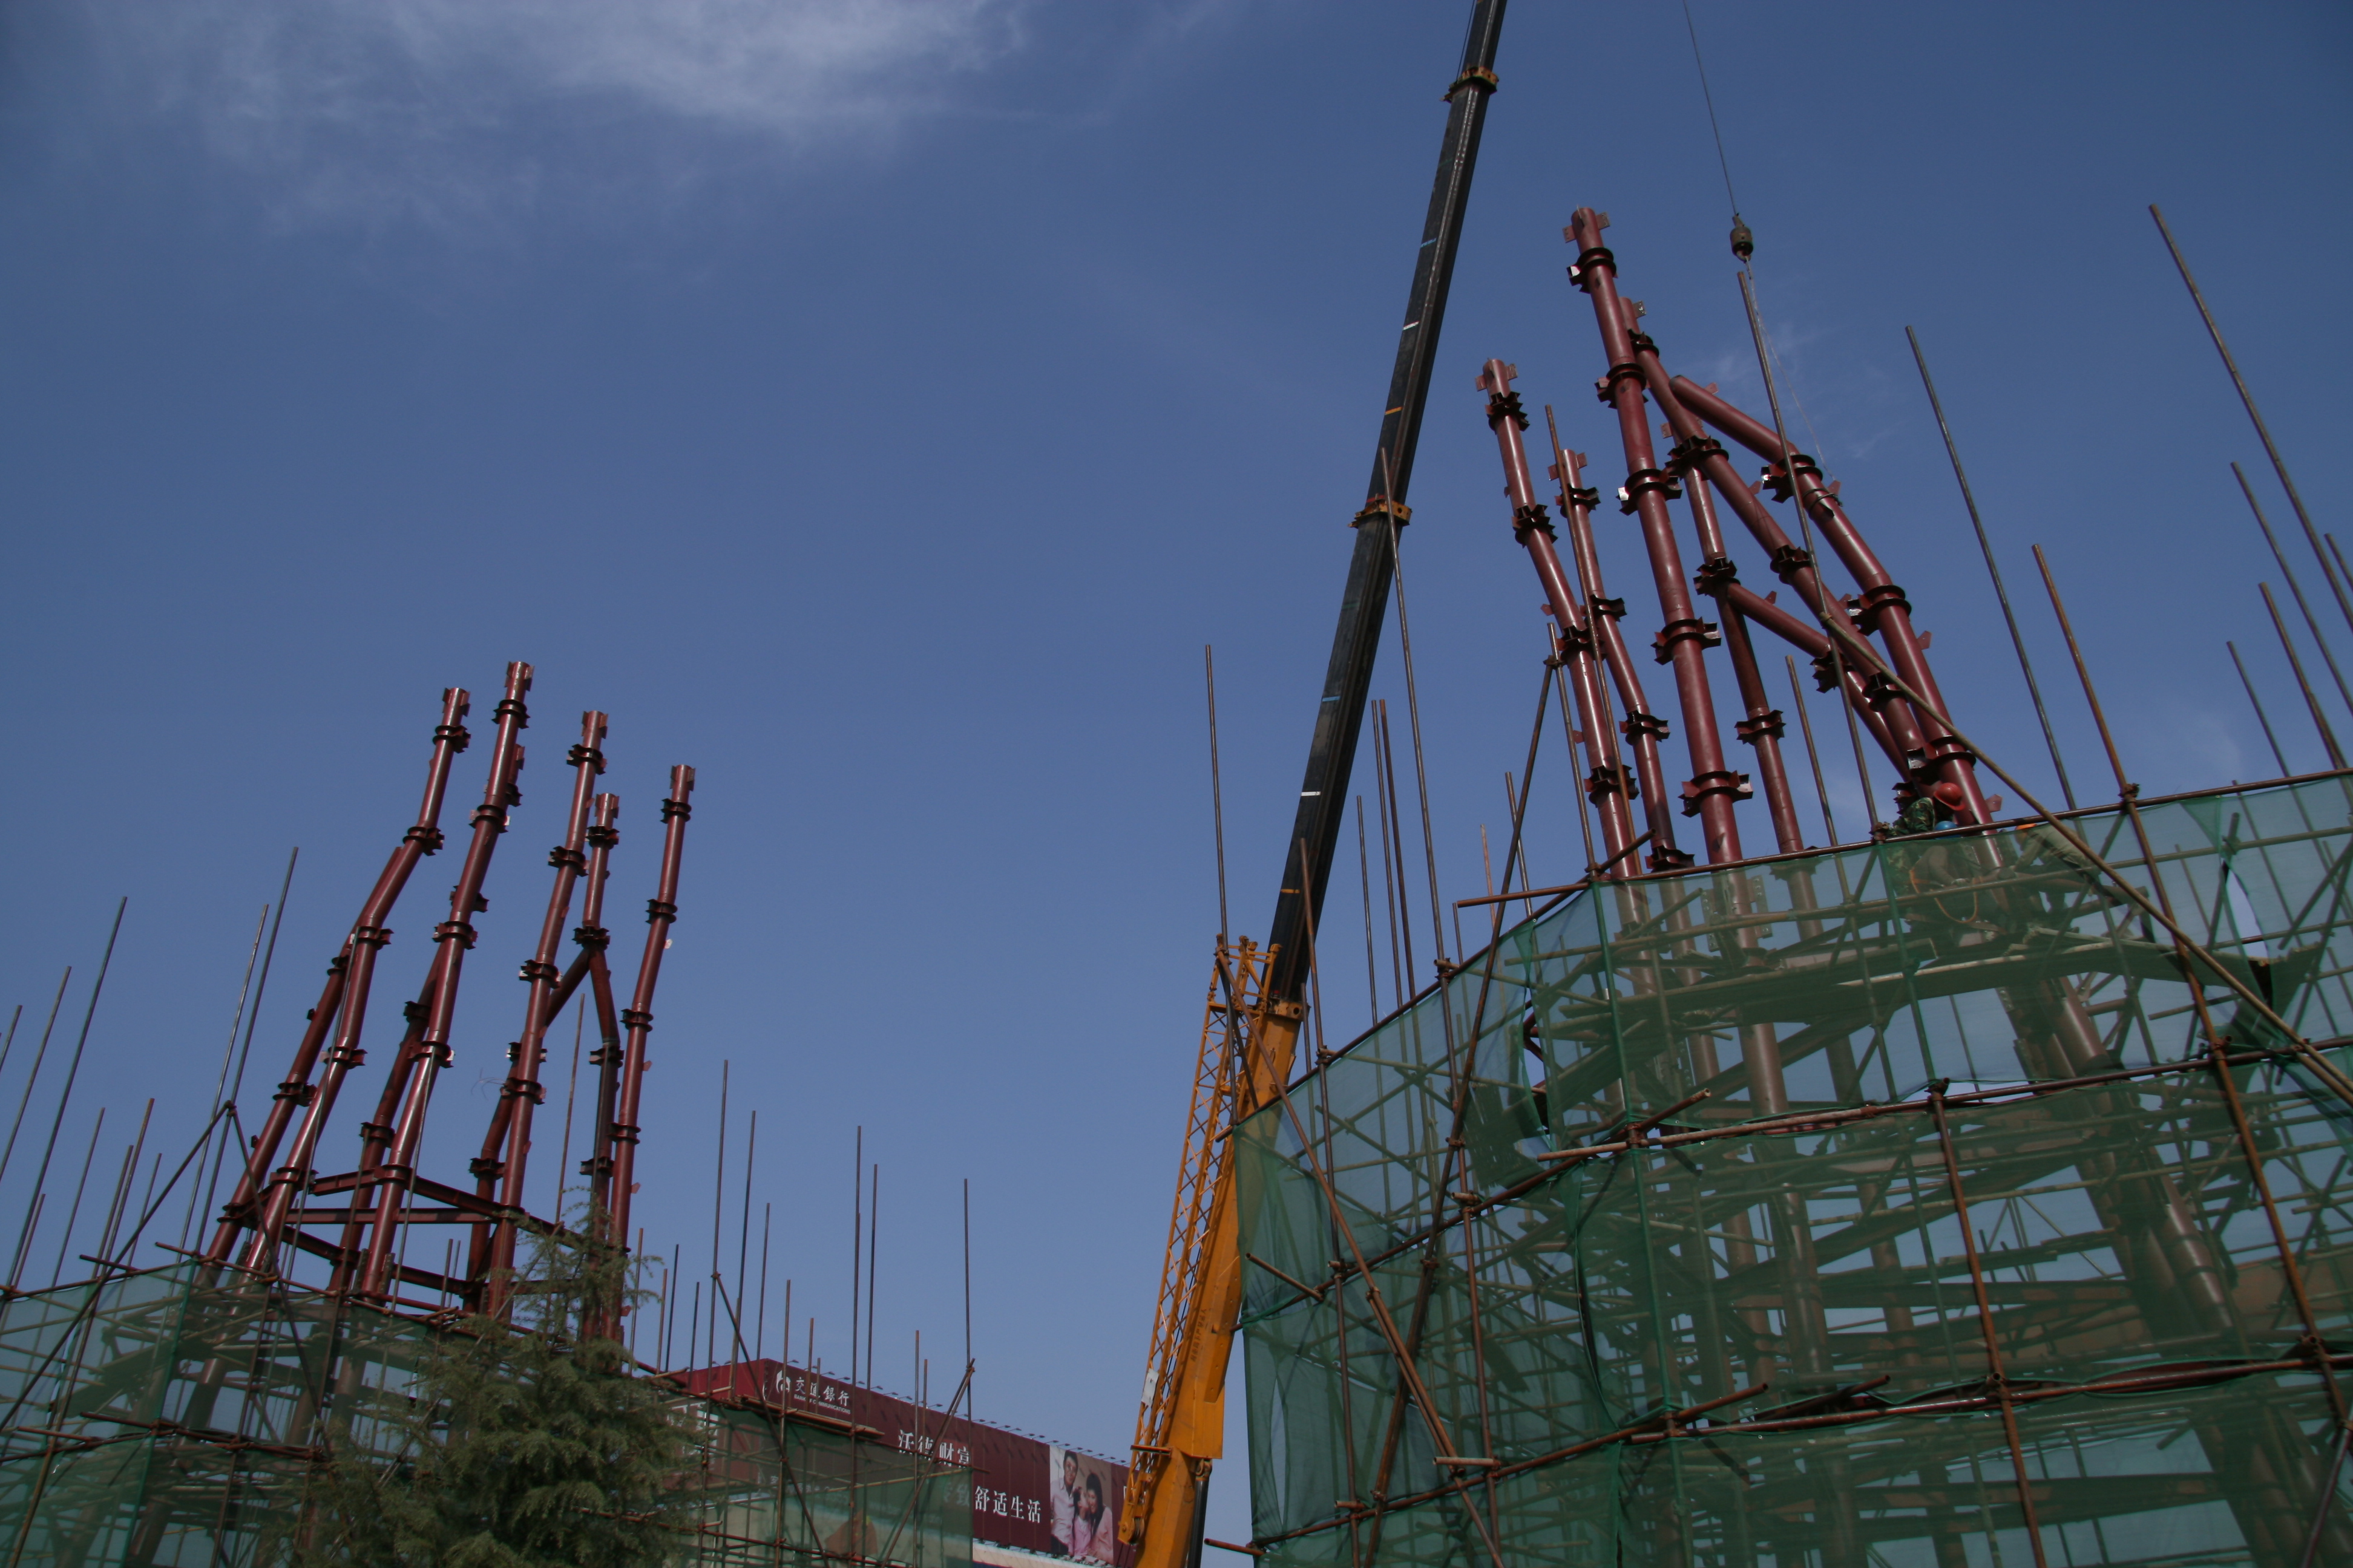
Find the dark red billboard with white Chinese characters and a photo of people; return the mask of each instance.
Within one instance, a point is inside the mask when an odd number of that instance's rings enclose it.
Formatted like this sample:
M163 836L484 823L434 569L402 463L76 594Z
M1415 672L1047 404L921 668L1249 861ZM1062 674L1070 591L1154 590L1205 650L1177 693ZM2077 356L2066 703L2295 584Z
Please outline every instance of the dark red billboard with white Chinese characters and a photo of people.
M854 1422L904 1453L972 1472L972 1537L1101 1568L1129 1568L1120 1544L1127 1465L1082 1448L927 1410L784 1361L734 1361L673 1373L689 1392Z

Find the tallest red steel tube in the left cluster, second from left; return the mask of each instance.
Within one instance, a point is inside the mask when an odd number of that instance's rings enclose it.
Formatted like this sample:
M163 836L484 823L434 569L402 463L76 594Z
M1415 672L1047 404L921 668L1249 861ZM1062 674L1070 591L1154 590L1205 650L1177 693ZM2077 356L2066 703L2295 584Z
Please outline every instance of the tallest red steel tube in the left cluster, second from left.
M449 919L433 929L433 971L428 980L424 1032L409 1051L412 1081L407 1086L400 1119L393 1124L391 1150L374 1168L376 1213L367 1234L367 1260L358 1269L360 1295L391 1295L393 1241L400 1232L400 1197L416 1166L416 1145L426 1133L426 1110L433 1103L433 1081L449 1060L449 1025L456 1016L456 990L466 969L466 950L473 947L473 914L482 907L482 882L489 877L489 858L506 832L508 809L522 799L515 778L522 773L522 743L515 738L532 715L522 698L532 689L532 665L506 665L506 696L499 698L499 733L489 762L489 783L482 788L482 804L473 811L473 842L466 844L466 863L456 886L449 891ZM353 1211L360 1194L353 1190Z

